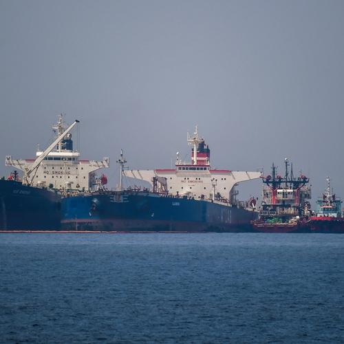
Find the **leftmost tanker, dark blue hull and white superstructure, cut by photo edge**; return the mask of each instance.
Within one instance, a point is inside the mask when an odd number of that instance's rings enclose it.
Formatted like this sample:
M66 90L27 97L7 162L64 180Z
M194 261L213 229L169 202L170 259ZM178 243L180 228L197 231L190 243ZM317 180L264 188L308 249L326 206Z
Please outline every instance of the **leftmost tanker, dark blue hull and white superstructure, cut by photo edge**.
M56 140L45 151L38 149L36 159L6 156L6 166L15 170L7 180L0 180L0 231L60 230L63 193L91 191L99 184L94 171L109 167L109 159L79 159L69 133L78 122L68 127L60 115L58 124L53 125ZM23 178L17 170L23 171Z

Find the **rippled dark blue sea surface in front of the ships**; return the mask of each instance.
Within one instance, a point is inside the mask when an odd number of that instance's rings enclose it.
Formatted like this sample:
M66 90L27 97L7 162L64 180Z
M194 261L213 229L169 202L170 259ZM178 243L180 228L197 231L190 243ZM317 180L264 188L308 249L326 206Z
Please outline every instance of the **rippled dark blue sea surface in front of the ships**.
M344 235L0 233L1 343L344 343Z

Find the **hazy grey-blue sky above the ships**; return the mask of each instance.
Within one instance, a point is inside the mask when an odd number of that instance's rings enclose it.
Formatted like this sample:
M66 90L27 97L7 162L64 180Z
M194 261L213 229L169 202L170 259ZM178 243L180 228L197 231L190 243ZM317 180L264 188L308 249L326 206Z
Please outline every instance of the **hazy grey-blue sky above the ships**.
M195 125L218 169L332 177L344 200L344 1L0 0L0 175L34 158L58 114L81 158L130 169L191 160ZM261 181L239 185L260 197Z

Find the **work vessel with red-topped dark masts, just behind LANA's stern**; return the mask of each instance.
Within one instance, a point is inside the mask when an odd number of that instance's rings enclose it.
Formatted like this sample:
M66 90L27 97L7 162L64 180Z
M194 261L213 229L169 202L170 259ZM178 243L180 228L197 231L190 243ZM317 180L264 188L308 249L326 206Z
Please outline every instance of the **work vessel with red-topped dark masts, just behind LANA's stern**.
M304 233L308 231L307 220L310 215L311 189L307 186L309 178L300 175L294 178L292 166L289 174L288 158L286 175L277 174L272 164L272 175L261 177L263 180L262 202L259 219L253 221L252 228L264 233Z

